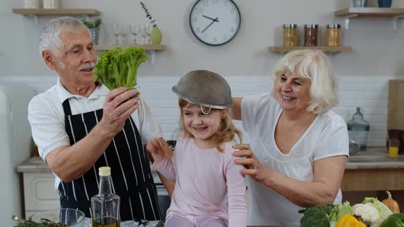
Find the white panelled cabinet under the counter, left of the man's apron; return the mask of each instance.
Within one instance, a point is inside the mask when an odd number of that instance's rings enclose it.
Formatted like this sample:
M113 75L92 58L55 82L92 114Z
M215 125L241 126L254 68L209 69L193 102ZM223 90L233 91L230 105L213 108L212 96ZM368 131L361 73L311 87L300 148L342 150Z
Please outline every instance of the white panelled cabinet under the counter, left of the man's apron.
M55 176L47 163L40 157L33 157L18 165L23 173L25 217L40 211L60 208L59 194L55 191Z

